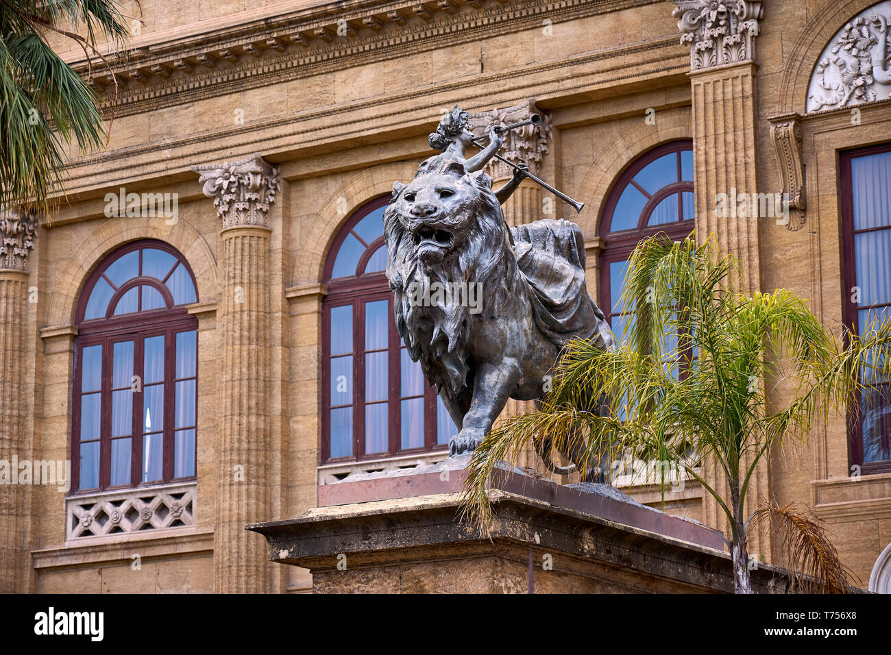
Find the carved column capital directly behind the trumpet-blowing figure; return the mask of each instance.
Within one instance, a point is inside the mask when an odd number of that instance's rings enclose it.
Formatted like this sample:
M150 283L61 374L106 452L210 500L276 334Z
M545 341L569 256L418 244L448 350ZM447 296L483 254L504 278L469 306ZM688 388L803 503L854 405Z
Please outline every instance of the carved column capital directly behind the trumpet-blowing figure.
M489 126L519 123L519 121L529 118L529 115L533 113L539 114L542 117L542 122L539 125L527 125L508 132L504 135L504 145L499 154L511 163L526 163L529 172L536 175L541 166L542 157L548 151L552 125L551 117L543 111L539 111L535 107L534 100L526 100L507 109L470 113L467 124L474 136L484 136L488 133ZM486 165L486 172L496 180L513 175L513 169L510 166L495 159L490 160Z

